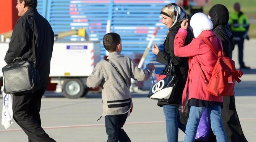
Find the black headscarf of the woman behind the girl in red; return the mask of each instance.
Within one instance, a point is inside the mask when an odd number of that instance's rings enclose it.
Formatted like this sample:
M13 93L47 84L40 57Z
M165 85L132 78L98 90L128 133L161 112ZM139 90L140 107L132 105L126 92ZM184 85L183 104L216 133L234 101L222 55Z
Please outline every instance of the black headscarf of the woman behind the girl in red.
M218 25L227 25L229 14L226 6L217 4L212 6L209 10L209 16L211 17L211 21L213 23L213 29Z

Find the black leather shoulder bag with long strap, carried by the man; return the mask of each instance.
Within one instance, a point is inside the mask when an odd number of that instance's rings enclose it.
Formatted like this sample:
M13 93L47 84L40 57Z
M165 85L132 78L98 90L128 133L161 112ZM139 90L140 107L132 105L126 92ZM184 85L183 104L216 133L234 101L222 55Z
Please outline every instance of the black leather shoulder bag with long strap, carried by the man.
M13 59L12 63L2 68L4 80L3 92L6 94L32 93L40 88L40 76L36 66L34 19L30 15L28 16L28 22L33 32L33 62L22 57L17 57Z

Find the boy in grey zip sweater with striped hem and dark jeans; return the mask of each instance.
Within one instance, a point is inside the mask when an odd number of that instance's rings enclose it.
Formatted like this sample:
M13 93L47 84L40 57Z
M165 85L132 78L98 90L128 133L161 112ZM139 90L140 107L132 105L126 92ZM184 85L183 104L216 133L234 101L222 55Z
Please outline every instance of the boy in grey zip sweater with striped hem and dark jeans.
M109 56L107 60L97 63L87 78L86 85L89 88L102 88L102 116L105 116L107 142L130 142L122 127L132 109L129 91L131 78L138 81L148 80L155 66L150 63L142 70L132 59L120 55L122 41L117 33L107 33L103 38L103 45Z

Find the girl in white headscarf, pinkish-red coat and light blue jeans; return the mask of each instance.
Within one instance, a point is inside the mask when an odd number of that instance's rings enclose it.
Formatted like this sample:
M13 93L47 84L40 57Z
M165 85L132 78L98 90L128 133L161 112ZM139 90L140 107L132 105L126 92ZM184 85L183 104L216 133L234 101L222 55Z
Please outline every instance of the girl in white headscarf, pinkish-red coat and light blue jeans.
M222 49L221 41L212 31L212 21L203 13L196 13L191 17L190 25L193 28L194 39L184 46L188 23L183 21L174 40L174 53L178 57L189 57L188 79L183 91L182 102L185 104L186 92L190 99L190 114L186 125L184 142L194 142L196 130L203 110L207 108L211 117L211 128L217 142L227 142L227 137L221 118L223 97L217 97L207 92L206 80L212 76L212 69L217 62L217 56L203 41L207 38L216 51ZM201 75L203 69L206 80Z

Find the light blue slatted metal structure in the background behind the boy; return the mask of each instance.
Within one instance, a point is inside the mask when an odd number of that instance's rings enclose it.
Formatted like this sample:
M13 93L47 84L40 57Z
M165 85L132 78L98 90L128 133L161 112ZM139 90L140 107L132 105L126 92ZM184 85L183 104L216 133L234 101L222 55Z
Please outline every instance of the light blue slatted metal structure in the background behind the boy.
M91 41L101 42L103 59L106 52L102 38L107 32L120 34L122 54L125 55L142 54L157 26L159 30L153 43L162 45L168 30L161 22L160 10L171 2L175 0L48 0L47 3L38 0L38 9L50 22L55 33L85 28ZM62 40L83 39L70 36ZM145 64L149 62L154 62L157 72L164 67L156 62L156 56L151 51Z

